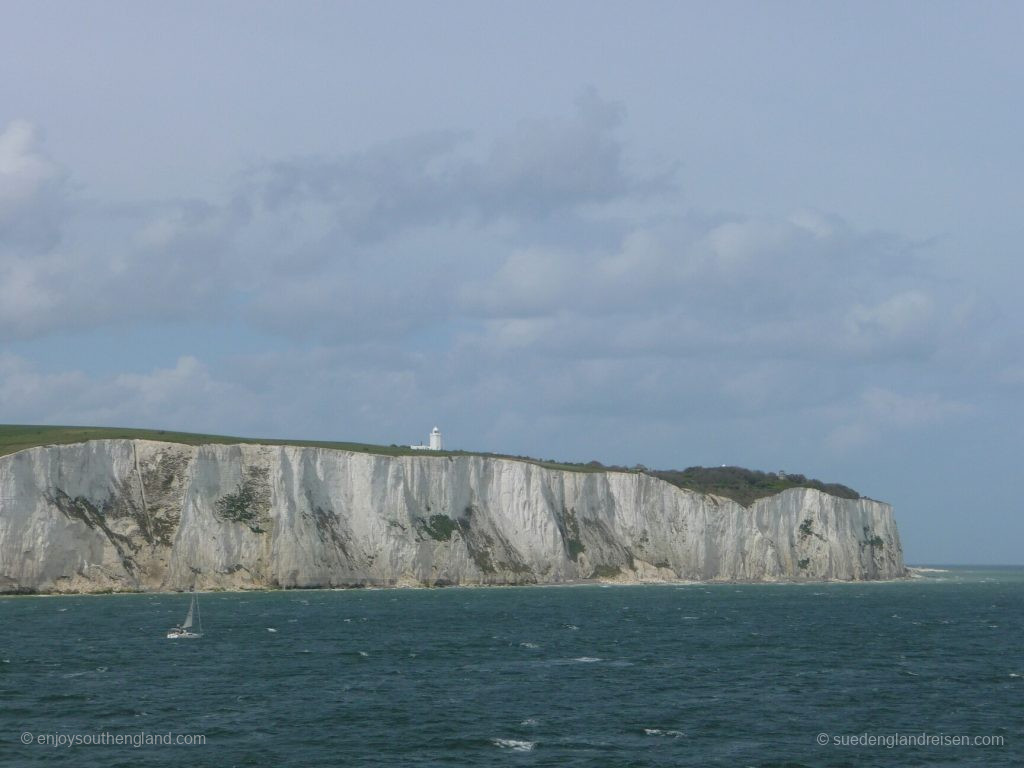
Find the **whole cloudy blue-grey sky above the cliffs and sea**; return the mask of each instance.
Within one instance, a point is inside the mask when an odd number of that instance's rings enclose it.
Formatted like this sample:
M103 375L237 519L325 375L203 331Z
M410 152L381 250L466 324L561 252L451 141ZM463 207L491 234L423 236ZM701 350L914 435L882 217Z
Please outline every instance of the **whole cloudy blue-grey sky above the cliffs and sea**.
M0 9L0 422L781 469L1024 563L1024 5Z

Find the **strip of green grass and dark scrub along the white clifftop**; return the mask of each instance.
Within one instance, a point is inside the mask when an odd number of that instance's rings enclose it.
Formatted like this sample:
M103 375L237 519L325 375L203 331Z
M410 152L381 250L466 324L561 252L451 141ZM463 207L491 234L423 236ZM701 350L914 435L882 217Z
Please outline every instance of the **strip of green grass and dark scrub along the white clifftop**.
M534 459L527 456L485 454L470 451L414 451L408 445L374 445L365 442L330 442L326 440L280 440L256 437L232 437L229 435L198 434L195 432L168 432L163 429L124 429L121 427L51 427L32 425L0 425L0 456L39 445L67 444L87 440L160 440L179 442L186 445L218 444L259 444L299 445L305 447L354 451L360 454L381 456L484 456L494 459L536 464L546 469L560 469L569 472L645 472L681 488L701 494L715 494L750 506L758 499L774 496L786 488L809 487L822 490L842 499L859 499L853 488L839 483L826 483L798 474L778 475L759 472L742 467L689 467L684 470L649 470L643 467L607 467L598 462L572 464L553 460Z

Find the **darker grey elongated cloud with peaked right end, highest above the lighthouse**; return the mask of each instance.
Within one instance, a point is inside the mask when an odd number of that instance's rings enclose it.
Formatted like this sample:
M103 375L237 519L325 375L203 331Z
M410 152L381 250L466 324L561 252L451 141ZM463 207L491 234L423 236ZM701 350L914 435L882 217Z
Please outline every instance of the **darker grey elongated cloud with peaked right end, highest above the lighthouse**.
M266 164L245 183L273 211L329 205L355 241L466 218L546 219L671 188L668 175L631 173L614 135L622 116L587 91L570 119L519 125L482 155L467 134L422 134L340 159Z

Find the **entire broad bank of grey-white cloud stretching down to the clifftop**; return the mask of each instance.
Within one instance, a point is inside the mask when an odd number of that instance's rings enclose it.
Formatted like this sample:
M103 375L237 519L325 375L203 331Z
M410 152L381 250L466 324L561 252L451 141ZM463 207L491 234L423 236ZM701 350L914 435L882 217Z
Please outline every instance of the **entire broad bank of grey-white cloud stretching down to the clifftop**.
M0 240L0 338L160 325L249 351L185 343L106 375L23 359L0 391L51 422L417 439L404 425L431 413L490 441L518 423L521 444L609 414L714 417L837 451L967 407L936 382L949 360L985 370L996 315L927 248L813 209L686 209L672 174L635 170L624 119L585 93L489 140L421 134L130 205L73 193L38 132L8 128L2 210L50 237Z

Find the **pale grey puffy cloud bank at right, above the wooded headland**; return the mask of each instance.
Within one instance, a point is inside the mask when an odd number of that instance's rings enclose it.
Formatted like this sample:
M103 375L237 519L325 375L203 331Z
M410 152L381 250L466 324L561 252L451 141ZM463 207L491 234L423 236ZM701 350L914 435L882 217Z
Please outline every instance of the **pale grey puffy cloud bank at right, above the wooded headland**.
M912 244L809 212L705 228L681 217L604 253L513 251L460 300L487 318L484 346L569 356L927 355L971 322L939 311L963 297L922 272Z

